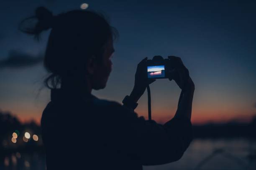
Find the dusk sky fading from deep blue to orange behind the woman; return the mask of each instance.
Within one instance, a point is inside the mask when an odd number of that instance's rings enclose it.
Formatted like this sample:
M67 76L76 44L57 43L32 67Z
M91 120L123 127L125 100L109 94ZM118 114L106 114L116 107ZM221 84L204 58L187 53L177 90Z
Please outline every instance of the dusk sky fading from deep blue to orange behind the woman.
M175 55L195 83L192 123L248 122L256 115L256 2L246 0L1 1L0 110L23 122L40 122L50 101L42 65L50 30L37 42L20 32L18 23L34 15L38 6L57 15L82 3L103 13L120 34L107 87L94 90L95 96L121 103L133 88L138 62ZM170 120L180 91L167 79L151 84L152 119ZM147 118L146 92L138 103L135 111Z

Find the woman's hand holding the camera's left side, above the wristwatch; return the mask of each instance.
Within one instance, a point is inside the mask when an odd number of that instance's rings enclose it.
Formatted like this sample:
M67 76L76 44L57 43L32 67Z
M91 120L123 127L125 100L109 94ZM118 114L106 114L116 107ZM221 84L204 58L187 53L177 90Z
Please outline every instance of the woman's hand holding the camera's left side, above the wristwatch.
M133 99L134 102L137 102L139 98L143 95L147 85L156 81L156 79L148 79L147 77L147 69L146 69L147 58L148 57L141 60L141 62L139 62L137 66L134 87L130 95L130 97Z

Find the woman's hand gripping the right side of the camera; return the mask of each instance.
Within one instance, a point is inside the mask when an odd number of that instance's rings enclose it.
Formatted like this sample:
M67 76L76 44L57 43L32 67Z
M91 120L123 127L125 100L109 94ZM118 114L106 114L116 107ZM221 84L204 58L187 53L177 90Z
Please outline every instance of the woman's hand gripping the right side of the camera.
M168 56L169 80L174 80L184 92L194 92L195 84L189 76L189 71L184 66L180 57Z

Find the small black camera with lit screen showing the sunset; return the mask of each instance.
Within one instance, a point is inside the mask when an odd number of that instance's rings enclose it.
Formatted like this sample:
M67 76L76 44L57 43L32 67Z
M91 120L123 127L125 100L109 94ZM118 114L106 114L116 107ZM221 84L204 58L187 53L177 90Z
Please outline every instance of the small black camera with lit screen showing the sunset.
M147 77L154 79L168 78L169 67L169 59L156 55L152 60L146 60Z

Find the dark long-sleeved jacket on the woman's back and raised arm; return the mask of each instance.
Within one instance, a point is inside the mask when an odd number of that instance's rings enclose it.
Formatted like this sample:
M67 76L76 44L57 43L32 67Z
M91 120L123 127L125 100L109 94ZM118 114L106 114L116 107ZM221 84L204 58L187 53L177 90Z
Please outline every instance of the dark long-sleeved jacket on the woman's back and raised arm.
M51 90L41 128L47 170L142 170L179 160L192 140L188 119L161 125L76 90Z

